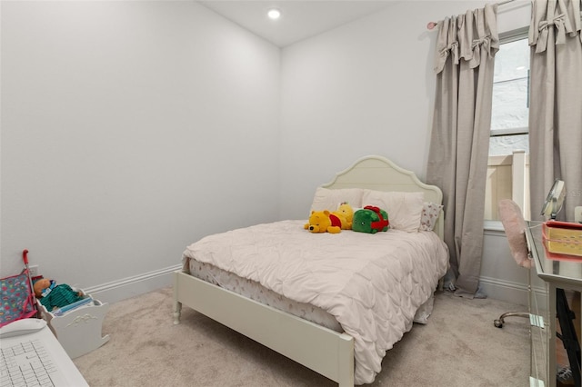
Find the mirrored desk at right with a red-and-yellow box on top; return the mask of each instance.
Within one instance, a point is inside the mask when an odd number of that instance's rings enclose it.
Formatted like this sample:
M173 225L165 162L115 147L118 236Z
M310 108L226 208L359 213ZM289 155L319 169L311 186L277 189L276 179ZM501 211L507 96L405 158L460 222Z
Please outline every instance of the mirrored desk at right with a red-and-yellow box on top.
M557 338L557 295L561 290L582 292L582 259L549 259L542 240L542 223L528 222L527 244L536 265L535 274L545 283L546 300L530 289L529 307L532 322L532 362L530 385L555 387L556 338ZM534 271L531 271L534 275ZM531 283L531 278L530 278ZM560 297L558 297L558 301ZM541 382L540 382L541 381Z

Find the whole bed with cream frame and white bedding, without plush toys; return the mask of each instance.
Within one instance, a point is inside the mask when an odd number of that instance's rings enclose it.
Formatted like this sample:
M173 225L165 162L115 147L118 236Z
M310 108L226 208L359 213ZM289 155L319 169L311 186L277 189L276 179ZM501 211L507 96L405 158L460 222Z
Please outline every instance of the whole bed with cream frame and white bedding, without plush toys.
M303 228L308 210L333 211L340 200L386 209L391 228ZM174 278L175 323L186 305L340 386L373 382L386 351L414 322L427 323L447 273L442 193L383 156L366 156L316 188L306 218L189 245Z

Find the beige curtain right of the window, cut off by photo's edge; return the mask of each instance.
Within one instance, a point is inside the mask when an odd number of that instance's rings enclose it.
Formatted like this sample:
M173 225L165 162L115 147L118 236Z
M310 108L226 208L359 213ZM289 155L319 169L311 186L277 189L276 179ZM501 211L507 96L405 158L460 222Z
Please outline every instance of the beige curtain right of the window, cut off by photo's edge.
M580 0L536 0L529 27L530 197L532 219L555 179L566 197L558 219L582 205L582 20Z

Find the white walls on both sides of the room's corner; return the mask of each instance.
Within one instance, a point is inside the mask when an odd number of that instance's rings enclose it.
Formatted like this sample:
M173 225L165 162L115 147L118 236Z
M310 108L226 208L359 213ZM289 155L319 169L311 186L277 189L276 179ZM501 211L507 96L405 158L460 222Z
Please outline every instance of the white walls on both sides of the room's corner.
M425 179L426 23L482 5L396 2L281 53L192 2L0 3L0 274L27 248L45 276L115 301L167 282L207 233L305 218L360 156ZM516 7L500 30L527 24ZM523 288L498 270L515 265L499 235L486 284Z

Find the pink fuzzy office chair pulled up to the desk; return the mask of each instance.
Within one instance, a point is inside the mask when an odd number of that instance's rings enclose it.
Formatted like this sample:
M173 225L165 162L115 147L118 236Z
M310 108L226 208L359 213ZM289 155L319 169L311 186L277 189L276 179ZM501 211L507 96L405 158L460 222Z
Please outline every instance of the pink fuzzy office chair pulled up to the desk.
M532 267L531 255L527 248L526 240L526 221L521 209L514 201L510 199L503 199L498 203L499 216L503 228L507 235L507 242L509 243L509 250L511 255L516 260L516 263L522 267L530 269ZM528 280L529 283L529 280ZM526 312L507 312L499 316L493 323L497 328L502 328L506 317L526 317L529 318L529 313Z

